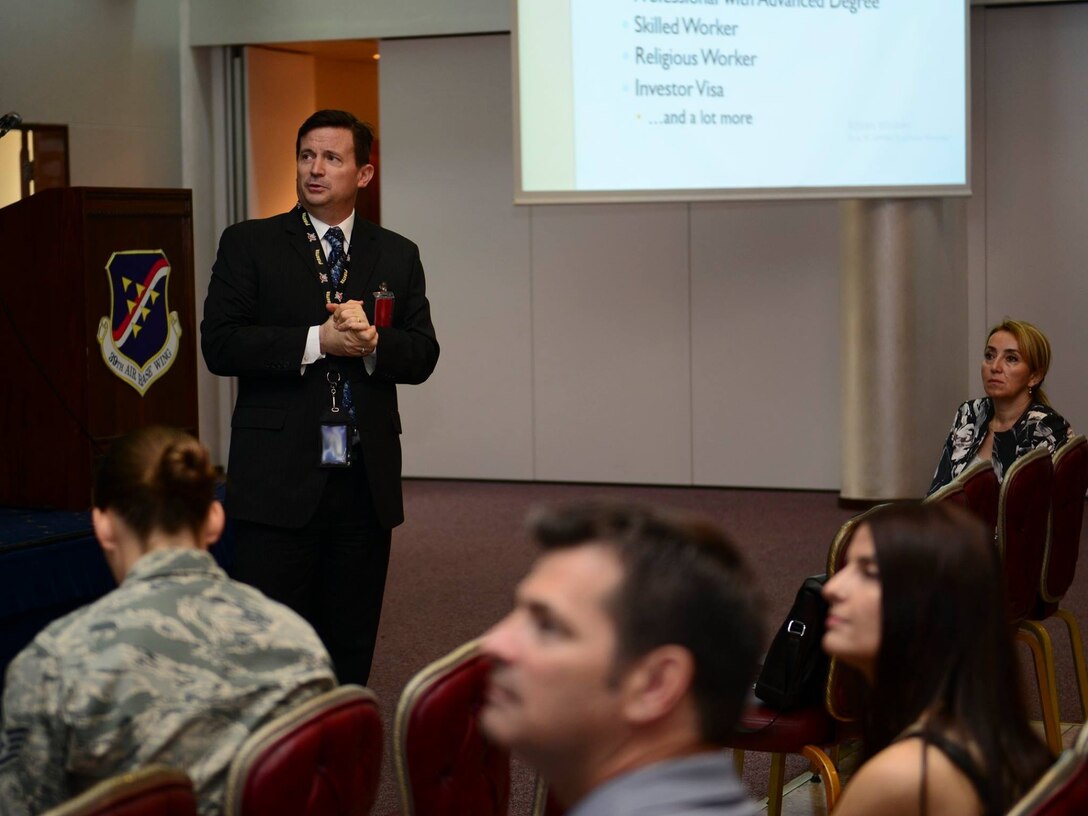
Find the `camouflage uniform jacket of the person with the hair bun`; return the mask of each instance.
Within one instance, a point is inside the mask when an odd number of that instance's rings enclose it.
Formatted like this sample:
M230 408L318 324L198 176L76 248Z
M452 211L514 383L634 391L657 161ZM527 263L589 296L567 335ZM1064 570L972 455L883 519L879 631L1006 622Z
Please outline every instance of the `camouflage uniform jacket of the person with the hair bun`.
M218 814L249 733L334 685L329 655L295 613L207 553L149 553L9 667L0 814L39 813L148 763L186 770L200 812Z

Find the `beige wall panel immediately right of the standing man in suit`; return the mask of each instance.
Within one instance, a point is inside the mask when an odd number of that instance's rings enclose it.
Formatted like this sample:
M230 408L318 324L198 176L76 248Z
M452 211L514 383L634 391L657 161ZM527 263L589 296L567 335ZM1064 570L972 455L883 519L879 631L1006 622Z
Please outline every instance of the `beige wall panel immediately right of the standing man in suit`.
M382 221L420 246L442 345L401 387L405 472L532 479L529 212L510 203L509 40L382 45Z

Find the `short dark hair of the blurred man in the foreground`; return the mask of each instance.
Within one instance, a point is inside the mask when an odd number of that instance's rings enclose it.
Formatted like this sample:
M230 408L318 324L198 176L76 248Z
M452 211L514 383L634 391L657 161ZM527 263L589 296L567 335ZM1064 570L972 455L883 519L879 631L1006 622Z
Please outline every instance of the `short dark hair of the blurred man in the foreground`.
M623 568L609 601L616 670L659 646L687 648L701 735L725 744L764 646L762 599L737 546L708 521L609 502L537 511L529 528L545 552L615 548Z

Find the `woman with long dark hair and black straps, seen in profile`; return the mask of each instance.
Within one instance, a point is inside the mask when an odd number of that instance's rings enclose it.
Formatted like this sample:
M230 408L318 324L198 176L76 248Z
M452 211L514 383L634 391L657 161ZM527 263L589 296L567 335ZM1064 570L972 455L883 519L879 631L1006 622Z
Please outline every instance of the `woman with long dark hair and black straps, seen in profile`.
M824 589L824 650L868 684L864 764L834 816L998 816L1047 769L1002 586L960 508L890 506L858 527Z

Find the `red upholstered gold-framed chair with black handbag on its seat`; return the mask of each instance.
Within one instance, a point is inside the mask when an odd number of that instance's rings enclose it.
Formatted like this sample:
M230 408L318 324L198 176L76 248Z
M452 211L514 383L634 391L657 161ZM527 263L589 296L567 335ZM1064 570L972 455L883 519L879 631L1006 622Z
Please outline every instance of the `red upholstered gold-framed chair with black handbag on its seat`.
M846 543L854 531L877 509L878 507L873 507L839 528L827 554L828 577L842 567ZM840 792L839 772L824 749L856 737L856 729L851 724L861 716L856 702L860 683L857 672L832 660L821 703L788 712L757 703L741 714L738 730L730 738L727 747L733 751L733 764L738 774L744 769L745 751L770 754L768 816L780 816L782 812L787 754L801 754L812 763L824 782L828 813L834 807Z

